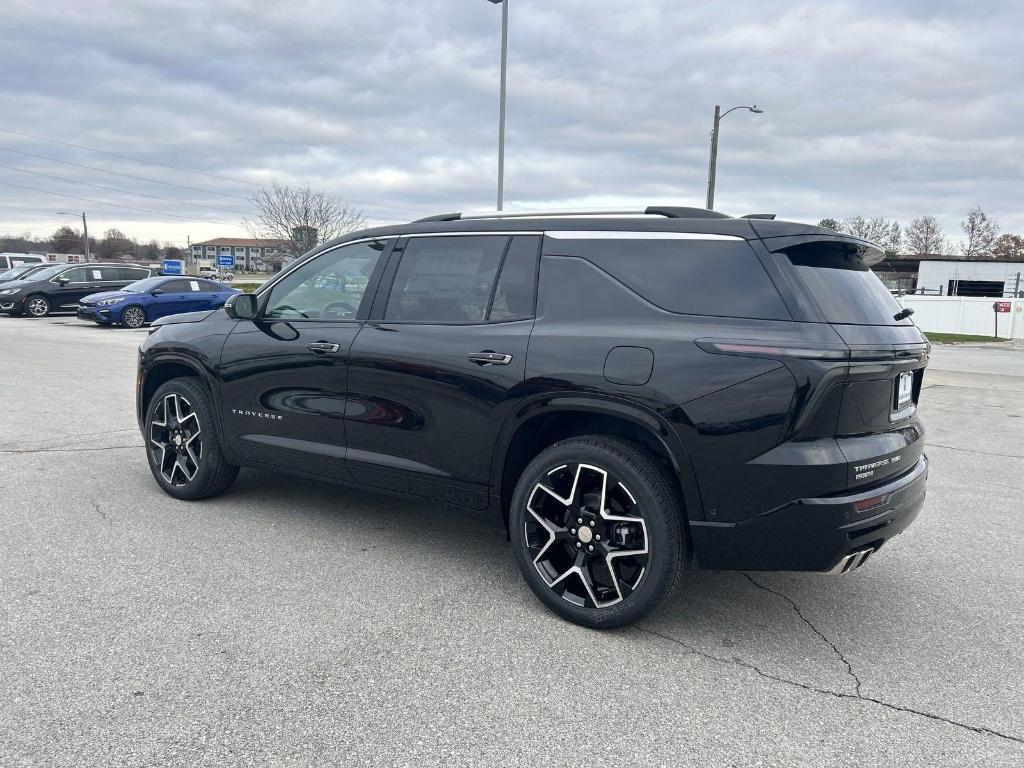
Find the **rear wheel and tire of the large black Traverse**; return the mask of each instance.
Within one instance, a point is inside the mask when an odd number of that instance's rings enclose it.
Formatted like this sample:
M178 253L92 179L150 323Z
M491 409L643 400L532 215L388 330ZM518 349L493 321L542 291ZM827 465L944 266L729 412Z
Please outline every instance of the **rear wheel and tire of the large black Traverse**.
M570 481L569 493L551 493ZM605 489L603 503L591 487ZM527 510L531 503L534 511ZM682 514L666 470L646 450L588 435L557 442L529 463L512 497L509 532L516 564L545 605L584 627L610 629L638 621L672 594L686 552ZM630 522L638 519L643 523ZM640 536L646 553L630 556L640 551Z

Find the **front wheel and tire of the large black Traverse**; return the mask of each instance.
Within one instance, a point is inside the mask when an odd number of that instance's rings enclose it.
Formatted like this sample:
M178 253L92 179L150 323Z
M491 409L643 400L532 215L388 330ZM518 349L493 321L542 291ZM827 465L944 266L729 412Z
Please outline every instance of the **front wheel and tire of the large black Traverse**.
M218 496L239 474L221 451L210 395L194 377L172 379L154 393L143 439L154 478L175 499Z

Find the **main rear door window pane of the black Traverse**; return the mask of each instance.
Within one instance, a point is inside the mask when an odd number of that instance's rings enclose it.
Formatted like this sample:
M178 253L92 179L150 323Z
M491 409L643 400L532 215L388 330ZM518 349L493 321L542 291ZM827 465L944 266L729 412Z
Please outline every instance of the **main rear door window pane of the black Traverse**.
M385 321L483 323L505 236L411 238Z

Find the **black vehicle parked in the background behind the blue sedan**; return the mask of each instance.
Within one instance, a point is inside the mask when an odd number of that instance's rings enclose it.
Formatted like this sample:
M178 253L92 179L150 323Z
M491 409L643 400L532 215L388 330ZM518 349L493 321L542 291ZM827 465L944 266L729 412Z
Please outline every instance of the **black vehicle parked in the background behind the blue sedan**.
M0 312L45 317L52 311L77 310L85 296L117 291L153 271L137 264L52 264L0 286Z

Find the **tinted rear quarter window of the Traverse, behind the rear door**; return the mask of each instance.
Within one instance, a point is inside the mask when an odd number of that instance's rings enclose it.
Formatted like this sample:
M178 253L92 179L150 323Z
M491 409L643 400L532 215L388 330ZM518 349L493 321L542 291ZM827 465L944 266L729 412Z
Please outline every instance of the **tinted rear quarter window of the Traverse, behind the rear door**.
M587 259L670 312L791 318L757 254L741 240L549 238L545 248Z

